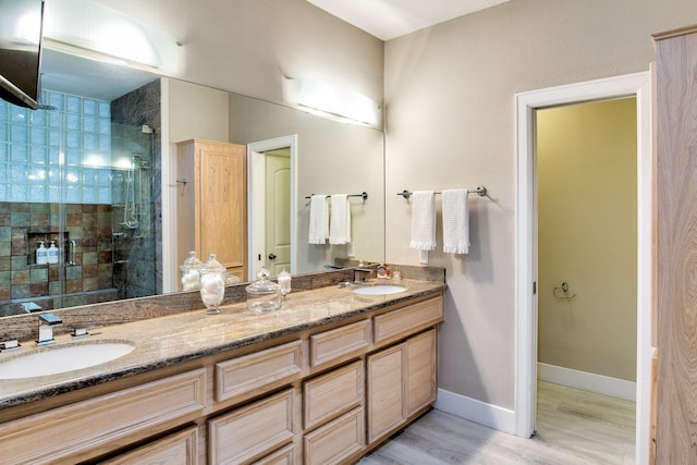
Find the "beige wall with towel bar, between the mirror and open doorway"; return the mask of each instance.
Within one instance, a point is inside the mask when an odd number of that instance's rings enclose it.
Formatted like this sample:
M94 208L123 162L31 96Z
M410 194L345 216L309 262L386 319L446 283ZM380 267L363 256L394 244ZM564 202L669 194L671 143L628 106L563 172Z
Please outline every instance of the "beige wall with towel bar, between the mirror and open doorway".
M441 389L513 408L514 94L648 70L650 34L696 22L692 0L513 0L387 42L387 260L418 264L392 193L491 195L472 198L468 256L431 254L448 269Z

